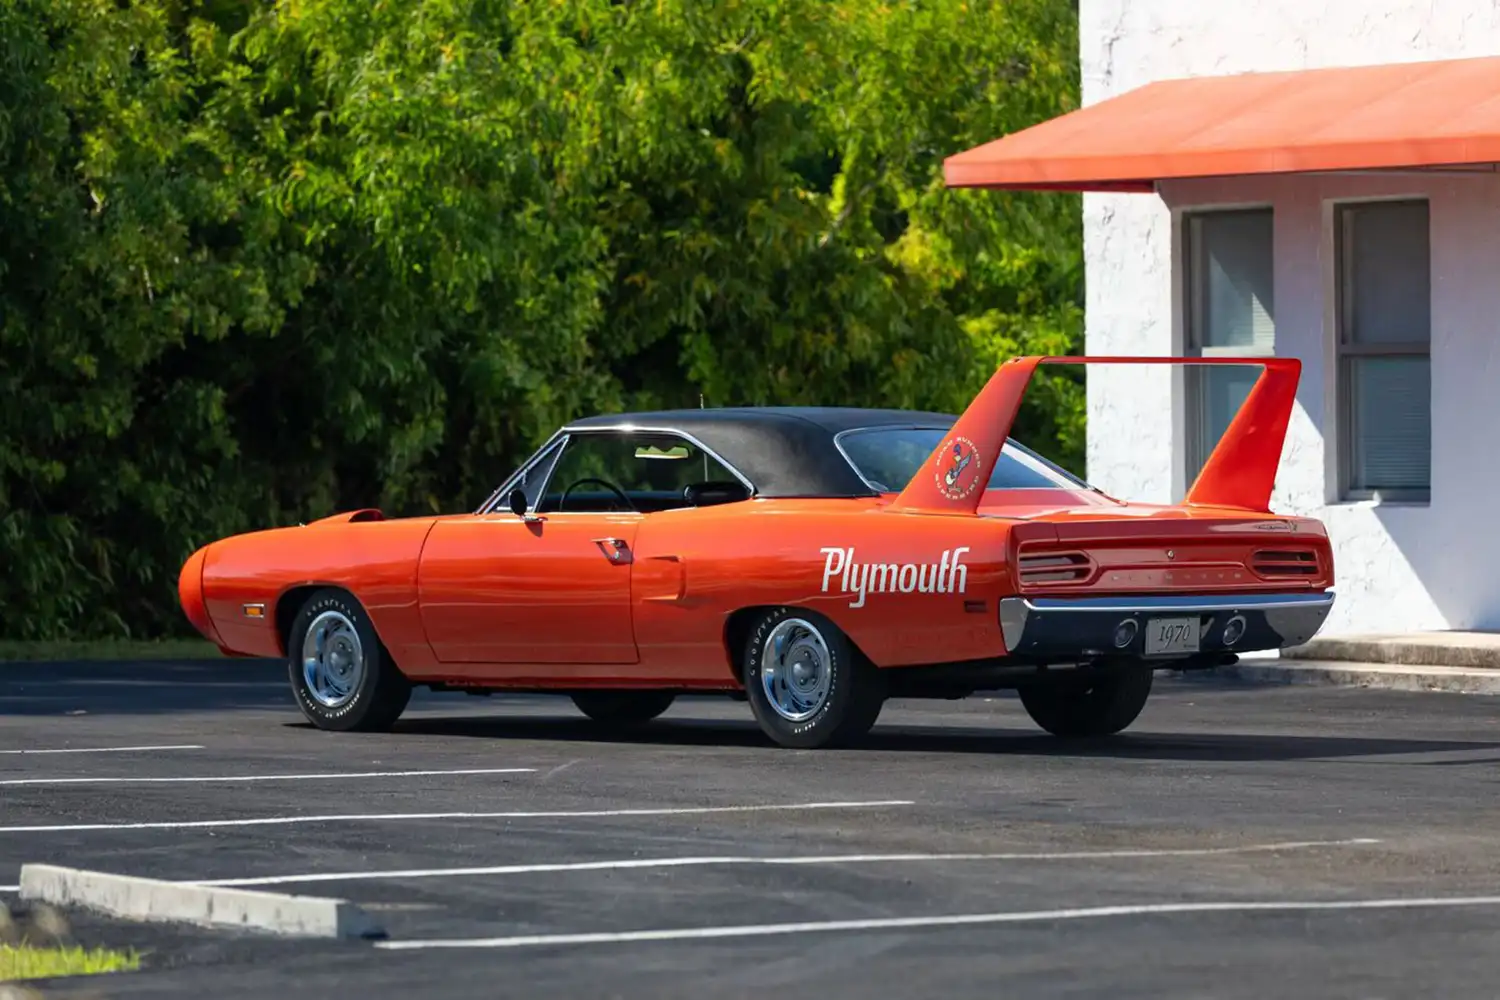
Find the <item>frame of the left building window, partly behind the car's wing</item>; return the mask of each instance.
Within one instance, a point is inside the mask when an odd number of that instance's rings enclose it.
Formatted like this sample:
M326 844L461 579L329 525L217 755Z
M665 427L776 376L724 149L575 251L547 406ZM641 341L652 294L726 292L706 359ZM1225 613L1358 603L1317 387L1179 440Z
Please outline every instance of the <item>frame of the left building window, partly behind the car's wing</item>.
M1238 216L1238 214L1264 214L1270 217L1270 282L1272 282L1272 300L1275 298L1275 282L1276 282L1276 231L1275 231L1275 205L1270 202L1256 202L1244 205L1226 205L1226 207L1200 207L1188 208L1180 214L1180 229L1179 238L1182 241L1182 340L1184 354L1188 357L1200 358L1274 358L1276 357L1276 336L1275 336L1275 301L1272 301L1270 325L1272 337L1269 346L1218 346L1204 343L1204 334L1208 331L1208 288L1206 282L1198 279L1200 274L1208 271L1202 235L1196 234L1198 222L1209 216ZM1245 367L1251 367L1246 364ZM1184 481L1192 483L1202 472L1203 465L1209 460L1214 453L1214 447L1209 445L1204 438L1208 426L1208 409L1206 409L1206 393L1203 391L1203 379L1210 372L1210 366L1192 366L1184 372L1184 448L1182 448L1182 468ZM1216 442L1215 442L1216 444Z

